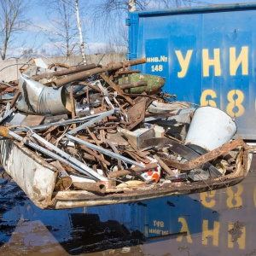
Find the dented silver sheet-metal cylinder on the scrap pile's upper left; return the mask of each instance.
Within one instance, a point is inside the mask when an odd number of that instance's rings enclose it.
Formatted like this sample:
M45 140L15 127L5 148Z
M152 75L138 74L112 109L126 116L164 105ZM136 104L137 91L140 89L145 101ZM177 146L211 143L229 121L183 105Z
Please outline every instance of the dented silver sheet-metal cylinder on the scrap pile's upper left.
M26 75L21 75L19 90L21 97L17 102L17 108L20 111L38 114L61 114L71 111L68 91L65 87L55 90Z

